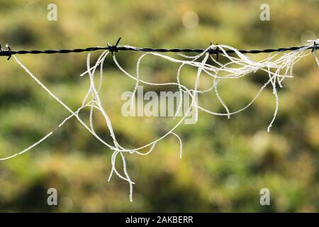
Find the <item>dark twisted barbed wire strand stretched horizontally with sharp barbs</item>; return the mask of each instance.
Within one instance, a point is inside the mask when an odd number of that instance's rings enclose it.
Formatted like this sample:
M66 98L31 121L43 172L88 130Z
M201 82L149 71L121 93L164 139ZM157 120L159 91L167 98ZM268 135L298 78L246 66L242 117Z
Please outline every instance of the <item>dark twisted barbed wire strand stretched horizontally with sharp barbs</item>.
M118 38L116 45L110 45L107 43L106 47L91 47L91 48L77 48L77 49L62 49L62 50L11 50L9 45L6 45L7 50L4 50L1 48L0 44L0 56L6 56L8 57L8 60L10 59L11 55L26 55L26 54L32 54L32 55L38 55L38 54L67 54L70 52L91 52L96 50L109 50L110 52L118 52L118 51L141 51L141 52L196 52L200 53L205 51L205 49L191 49L191 48L137 48L133 46L118 46L118 43L120 42L121 38ZM284 51L293 51L293 50L299 50L301 48L306 48L307 45L299 45L299 46L293 46L289 48L276 48L276 49L264 49L264 50L238 50L241 53L250 53L250 54L259 54L259 53L267 53L267 52L284 52ZM319 47L318 43L313 43L313 46L308 47L307 49L313 49L315 51ZM222 50L216 49L208 49L208 52L210 54L218 55L219 53L223 53ZM234 50L225 50L225 52L234 53Z

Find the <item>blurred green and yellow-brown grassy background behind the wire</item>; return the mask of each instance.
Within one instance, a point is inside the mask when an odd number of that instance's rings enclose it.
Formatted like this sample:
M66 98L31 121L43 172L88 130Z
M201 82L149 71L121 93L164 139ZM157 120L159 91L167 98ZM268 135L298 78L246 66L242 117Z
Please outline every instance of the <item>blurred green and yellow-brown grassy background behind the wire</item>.
M57 4L57 21L47 20L50 3ZM259 19L263 3L270 6L270 21ZM184 26L187 11L198 15L198 26ZM279 48L315 38L318 12L318 0L0 0L0 41L13 50L84 48L115 43L120 36L121 44L152 48L206 48L211 41L240 49ZM140 55L120 52L117 57L134 73ZM81 105L89 85L86 77L79 77L86 67L85 53L18 57L72 109ZM145 78L169 82L176 79L178 65L150 57L141 67ZM119 72L111 56L104 70L101 97L121 145L144 145L172 126L167 118L121 116L121 94L135 82ZM150 155L126 155L135 182L133 203L127 182L116 176L107 182L110 150L72 118L30 152L0 163L0 211L319 211L319 70L312 55L296 64L294 75L279 90L279 112L270 133L271 87L250 109L230 119L201 112L196 125L179 127L181 160L174 136ZM252 99L266 78L257 72L222 83L220 93L235 110ZM201 101L208 109L223 111L214 94ZM1 157L28 147L66 116L13 59L0 58ZM98 115L94 121L105 138L103 118ZM47 205L51 187L57 189L58 206ZM271 192L270 206L259 204L264 187Z

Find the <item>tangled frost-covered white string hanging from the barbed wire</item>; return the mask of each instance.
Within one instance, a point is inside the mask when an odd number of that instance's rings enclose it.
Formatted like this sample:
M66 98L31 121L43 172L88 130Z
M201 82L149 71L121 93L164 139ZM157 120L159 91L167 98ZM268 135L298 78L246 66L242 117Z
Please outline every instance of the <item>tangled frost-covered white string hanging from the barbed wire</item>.
M125 160L125 155L133 154L136 153L138 155L148 155L152 153L152 151L155 148L155 145L160 140L163 140L164 138L167 138L169 135L174 135L177 137L179 140L179 157L182 155L182 141L179 135L175 133L174 131L178 128L178 126L184 122L186 116L188 116L189 112L191 111L192 108L195 108L195 113L196 113L196 119L198 118L198 110L204 111L208 114L212 115L217 115L217 116L232 116L233 114L238 114L241 111L247 109L252 103L257 99L259 94L261 94L262 90L267 87L269 84L272 86L273 94L274 94L274 99L275 99L275 109L274 109L274 116L272 118L272 121L270 121L269 126L267 128L267 131L270 130L272 127L272 123L274 123L276 114L279 109L279 96L277 94L277 88L282 87L282 82L285 78L291 78L293 77L293 65L298 62L302 57L305 57L306 55L309 55L310 52L307 52L307 49L312 46L312 43L318 43L318 40L310 40L309 45L305 46L304 48L300 48L298 50L294 50L289 53L284 53L284 52L279 52L276 54L270 54L268 57L264 58L263 60L252 60L252 58L248 57L247 55L242 54L239 52L237 49L230 47L228 45L211 45L206 50L201 52L198 55L195 56L189 56L189 55L179 55L179 59L169 57L167 55L163 55L161 53L157 52L146 52L142 56L139 57L137 65L136 65L136 74L130 74L126 70L123 69L123 67L120 65L118 60L116 59L116 55L113 55L113 61L115 62L116 66L118 67L123 74L125 74L127 77L130 79L135 80L135 87L133 89L133 94L132 94L132 101L135 96L135 92L137 91L138 85L139 84L147 84L147 85L154 85L154 86L164 86L164 85L173 85L178 87L179 93L187 93L191 97L191 105L189 108L185 111L184 115L181 116L179 121L164 135L160 136L159 138L155 139L151 143L147 143L145 145L140 146L139 148L134 148L134 149L128 149L124 148L120 143L118 143L118 140L116 139L116 134L113 131L113 126L111 123L111 120L107 114L106 109L103 108L101 104L101 97L99 96L99 92L101 90L101 84L103 82L103 62L106 60L106 57L108 56L109 51L106 50L101 53L99 58L96 60L94 65L91 65L90 62L90 57L91 53L87 55L86 58L86 71L83 72L80 76L81 77L86 77L89 79L89 87L87 89L86 95L84 96L84 99L82 101L82 105L79 106L79 108L76 111L72 111L72 109L67 106L61 99L59 99L55 94L53 94L50 89L45 87L45 85L40 82L40 80L35 77L35 75L28 70L28 68L23 65L23 63L18 60L18 58L13 55L14 59L16 62L18 62L18 65L20 65L23 70L25 70L32 79L35 80L35 82L42 88L44 89L50 96L52 96L53 99L55 99L58 103L60 103L67 111L69 111L70 115L65 118L60 125L57 126L54 130L50 131L50 133L47 133L43 138L38 140L37 142L33 143L33 145L30 145L28 148L25 150L22 150L19 153L16 153L14 155L11 155L9 157L4 157L1 158L0 160L8 160L12 157L16 157L17 155L21 155L23 153L26 153L28 150L31 148L34 148L36 145L42 143L45 139L50 137L58 128L63 126L69 118L75 117L79 121L79 123L86 128L89 133L91 133L95 138L97 138L103 145L105 145L109 150L111 150L112 155L111 155L111 172L108 177L108 181L111 180L111 177L113 175L117 175L121 179L125 180L129 184L129 194L130 194L130 201L133 201L133 184L135 184L131 179L130 176L128 175L128 170L126 168L126 160ZM132 46L128 45L122 45L123 47L127 48L135 48ZM213 48L218 48L221 53L220 55L223 55L223 57L227 58L228 61L227 63L222 64L218 61L216 61L211 55L209 54L209 50ZM234 54L231 56L226 52L226 50L233 50ZM154 55L156 57L161 57L164 60L167 60L169 62L172 62L174 64L179 65L179 68L177 70L176 74L176 80L174 82L167 82L167 83L154 83L152 81L145 81L143 79L140 79L140 63L142 62L142 59L146 57L147 55ZM315 60L319 65L318 57L316 55L316 51L313 50L313 55L315 56ZM208 58L211 58L213 61L214 65L208 64ZM201 60L202 59L202 60ZM192 87L186 87L184 84L181 84L181 68L184 66L190 66L194 67L197 70L196 77L195 77L195 82L192 85ZM99 69L99 70L97 70ZM245 77L245 75L250 74L252 72L257 72L258 70L262 70L264 72L267 72L268 74L268 81L265 82L262 87L259 89L259 92L252 98L249 104L246 106L243 106L241 109L235 110L235 111L230 111L228 108L227 104L225 104L225 101L223 101L222 96L220 96L218 92L218 83L222 80L225 79L240 79L241 77ZM97 72L99 71L99 72ZM198 83L200 82L201 79L201 72L205 72L208 74L208 76L211 77L212 83L211 87L208 87L208 89L205 90L200 90L198 89ZM98 84L94 82L94 77L96 77L96 74L98 74ZM199 106L196 96L200 94L205 94L207 92L214 92L216 94L216 97L218 101L220 101L220 104L222 104L223 108L225 109L225 112L223 113L217 113L210 111L206 109L203 106ZM183 101L183 96L179 96L179 104L177 105L177 111L174 114L174 118L177 116L181 109L181 103ZM83 119L79 117L79 112L82 111L82 109L90 109L90 114L89 114L89 124L84 123ZM101 112L107 126L107 131L110 133L112 143L107 143L105 140L103 140L99 135L96 134L94 130L94 123L93 123L93 117L94 117L94 111L99 111ZM147 149L147 151L142 152L143 149ZM123 170L118 170L116 167L116 160L121 160L121 165Z

